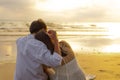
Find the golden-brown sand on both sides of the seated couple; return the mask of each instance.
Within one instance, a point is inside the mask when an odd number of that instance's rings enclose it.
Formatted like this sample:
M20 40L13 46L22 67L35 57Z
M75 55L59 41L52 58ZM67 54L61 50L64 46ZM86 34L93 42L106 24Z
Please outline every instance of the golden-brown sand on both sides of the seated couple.
M120 54L76 54L79 66L95 80L120 80ZM15 63L0 62L0 80L13 80Z

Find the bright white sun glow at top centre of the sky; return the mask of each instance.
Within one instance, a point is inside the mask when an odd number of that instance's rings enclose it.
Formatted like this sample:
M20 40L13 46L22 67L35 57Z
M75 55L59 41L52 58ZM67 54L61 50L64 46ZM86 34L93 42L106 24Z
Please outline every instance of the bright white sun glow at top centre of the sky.
M88 6L89 2L90 0L36 0L35 8L37 10L59 12Z

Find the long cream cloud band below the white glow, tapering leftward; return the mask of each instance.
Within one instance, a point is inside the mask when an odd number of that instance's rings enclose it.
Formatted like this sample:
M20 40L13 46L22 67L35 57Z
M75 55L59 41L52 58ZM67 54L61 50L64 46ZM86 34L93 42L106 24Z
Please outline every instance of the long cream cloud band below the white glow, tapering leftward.
M106 16L106 9L101 7L77 8L72 10L66 10L60 13L46 13L46 17L56 18L56 20L58 21L66 22L100 22L104 21Z

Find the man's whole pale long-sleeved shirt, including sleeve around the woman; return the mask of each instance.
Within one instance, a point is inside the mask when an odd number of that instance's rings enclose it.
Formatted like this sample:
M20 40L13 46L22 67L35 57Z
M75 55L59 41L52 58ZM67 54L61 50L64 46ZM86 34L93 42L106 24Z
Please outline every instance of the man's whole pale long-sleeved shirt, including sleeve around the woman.
M56 53L51 56L47 47L33 35L19 38L15 80L47 80L42 64L55 67L61 60Z

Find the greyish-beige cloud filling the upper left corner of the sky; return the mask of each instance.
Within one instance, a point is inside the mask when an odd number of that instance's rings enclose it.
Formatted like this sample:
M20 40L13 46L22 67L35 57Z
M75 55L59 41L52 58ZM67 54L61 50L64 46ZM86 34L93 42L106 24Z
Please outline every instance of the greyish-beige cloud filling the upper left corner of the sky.
M0 18L21 20L34 17L34 0L0 0Z

